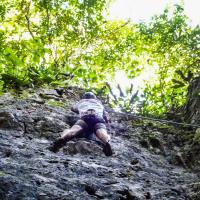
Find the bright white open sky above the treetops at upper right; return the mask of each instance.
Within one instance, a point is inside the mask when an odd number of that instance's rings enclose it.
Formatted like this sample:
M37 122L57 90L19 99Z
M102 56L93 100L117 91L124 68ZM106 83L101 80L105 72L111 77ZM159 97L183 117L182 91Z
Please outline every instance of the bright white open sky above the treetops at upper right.
M132 19L134 22L148 21L153 15L163 12L167 5L182 0L114 0L109 19ZM200 0L184 0L185 13L192 25L200 24Z

